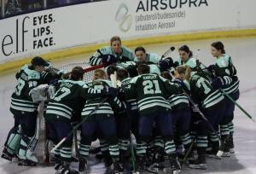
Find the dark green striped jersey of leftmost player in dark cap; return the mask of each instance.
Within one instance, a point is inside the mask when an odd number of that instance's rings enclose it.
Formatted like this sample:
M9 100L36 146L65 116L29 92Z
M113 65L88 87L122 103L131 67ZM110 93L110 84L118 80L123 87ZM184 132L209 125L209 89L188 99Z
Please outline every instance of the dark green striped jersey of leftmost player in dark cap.
M26 65L16 74L16 79L15 92L11 96L11 113L19 115L35 112L38 109L38 103L32 102L30 91L40 83L40 73Z

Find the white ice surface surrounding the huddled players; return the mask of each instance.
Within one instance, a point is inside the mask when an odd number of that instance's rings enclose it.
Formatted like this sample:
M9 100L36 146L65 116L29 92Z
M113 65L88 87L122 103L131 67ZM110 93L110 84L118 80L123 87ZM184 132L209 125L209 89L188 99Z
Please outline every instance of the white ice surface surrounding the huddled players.
M238 76L241 80L241 96L238 102L248 113L256 119L256 38L230 38L220 39L224 45L227 54L231 55L233 63L236 65ZM148 52L154 52L162 55L166 49L171 46L178 48L183 44L188 44L194 51L198 59L204 64L212 64L215 60L210 54L210 44L216 40L204 40L193 42L181 42L175 44L147 45ZM201 49L200 51L197 51ZM72 60L54 62L55 65L66 64L67 62L84 61L90 55L74 57ZM172 58L177 57L177 49L172 53ZM14 125L14 119L9 112L10 96L15 88L15 72L4 73L0 75L0 151L3 150L3 143L8 135L9 129ZM196 171L184 167L184 174L190 173L232 173L232 174L256 174L256 123L247 119L244 113L236 108L235 113L235 145L236 154L230 158L213 160L207 159L208 169L206 171ZM95 165L96 171L91 173L102 173L102 165ZM50 174L54 173L53 167L22 167L14 163L9 163L0 159L0 174L19 173L19 174Z

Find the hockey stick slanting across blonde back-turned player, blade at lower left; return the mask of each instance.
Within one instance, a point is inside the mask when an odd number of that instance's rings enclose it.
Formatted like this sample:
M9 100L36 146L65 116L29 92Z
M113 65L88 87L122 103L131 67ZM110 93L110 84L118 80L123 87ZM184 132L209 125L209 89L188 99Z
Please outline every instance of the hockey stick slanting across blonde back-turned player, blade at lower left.
M104 102L106 102L107 100L108 100L108 96L105 97L105 98L102 100L102 102L100 102L100 103L94 108L94 110L92 110L86 117L84 117L84 119L82 119L82 121L79 122L79 124L75 125L75 126L73 127L73 130L70 131L70 132L67 134L66 137L62 138L61 142L59 142L57 145L55 145L55 148L52 148L52 149L50 150L50 153L54 153L54 151L55 151L57 148L59 148L59 147L61 146L61 144L67 140L67 138L68 138L69 136L73 135L73 132L76 131L77 129L79 129L79 127L84 123L84 121L86 121L94 112L96 112L96 110L97 110L99 107L101 107L102 104L103 104Z

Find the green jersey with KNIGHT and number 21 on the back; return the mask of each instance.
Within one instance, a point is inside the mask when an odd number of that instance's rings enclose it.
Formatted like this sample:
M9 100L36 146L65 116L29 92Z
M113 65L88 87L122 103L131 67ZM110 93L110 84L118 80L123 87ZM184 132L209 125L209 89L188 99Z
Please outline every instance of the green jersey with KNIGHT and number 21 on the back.
M177 92L170 82L156 74L143 74L132 78L124 90L126 96L137 98L141 115L168 112L171 106L166 99Z

